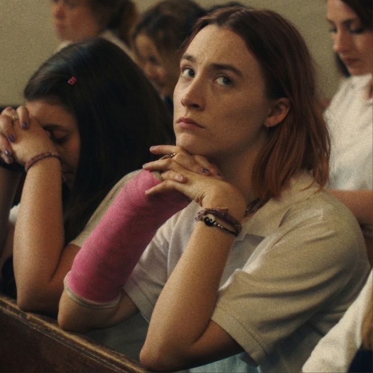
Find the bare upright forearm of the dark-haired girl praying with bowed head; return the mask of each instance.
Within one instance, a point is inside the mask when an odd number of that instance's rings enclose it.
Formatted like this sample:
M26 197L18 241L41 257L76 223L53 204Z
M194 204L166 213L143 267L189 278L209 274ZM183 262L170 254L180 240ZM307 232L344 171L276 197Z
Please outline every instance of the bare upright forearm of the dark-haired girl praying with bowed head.
M25 310L56 310L63 289L64 274L57 271L64 248L61 188L56 158L36 163L25 178L14 235L17 301ZM56 273L61 278L54 280Z

